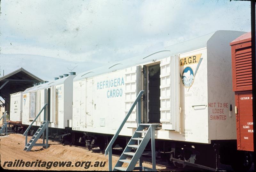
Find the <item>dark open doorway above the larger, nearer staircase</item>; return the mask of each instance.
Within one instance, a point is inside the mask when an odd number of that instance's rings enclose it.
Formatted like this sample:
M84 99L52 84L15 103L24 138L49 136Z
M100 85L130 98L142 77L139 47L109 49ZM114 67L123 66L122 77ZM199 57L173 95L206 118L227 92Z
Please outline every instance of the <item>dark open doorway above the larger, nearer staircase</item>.
M160 123L160 64L148 67L148 123Z

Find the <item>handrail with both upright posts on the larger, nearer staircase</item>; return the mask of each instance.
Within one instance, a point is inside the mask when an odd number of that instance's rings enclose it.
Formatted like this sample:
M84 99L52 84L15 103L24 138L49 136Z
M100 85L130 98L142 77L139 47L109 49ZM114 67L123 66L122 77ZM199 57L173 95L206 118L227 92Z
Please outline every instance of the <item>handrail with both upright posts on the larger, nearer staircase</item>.
M119 126L118 130L116 131L116 134L113 136L113 138L111 139L111 141L108 144L108 147L105 150L105 156L108 154L108 170L109 171L112 171L112 146L113 146L116 138L118 137L118 135L119 135L120 131L122 130L125 122L127 121L129 116L131 115L132 110L134 109L134 107L136 106L137 103L138 103L138 107L137 107L137 110L138 110L138 113L137 113L137 125L141 123L141 107L140 107L141 106L141 100L140 100L140 98L141 98L143 93L144 93L143 90L141 90L139 92L138 96L136 97L135 101L132 104L132 107L130 108L130 110L126 114L122 124Z

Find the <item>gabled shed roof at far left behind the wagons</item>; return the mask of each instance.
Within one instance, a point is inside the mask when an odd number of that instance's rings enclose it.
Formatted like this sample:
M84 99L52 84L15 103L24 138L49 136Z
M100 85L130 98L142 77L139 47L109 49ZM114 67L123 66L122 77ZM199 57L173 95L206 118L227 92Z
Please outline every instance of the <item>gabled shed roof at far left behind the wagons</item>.
M24 91L36 82L43 82L43 80L24 68L19 68L0 78L0 96L9 99L10 94Z

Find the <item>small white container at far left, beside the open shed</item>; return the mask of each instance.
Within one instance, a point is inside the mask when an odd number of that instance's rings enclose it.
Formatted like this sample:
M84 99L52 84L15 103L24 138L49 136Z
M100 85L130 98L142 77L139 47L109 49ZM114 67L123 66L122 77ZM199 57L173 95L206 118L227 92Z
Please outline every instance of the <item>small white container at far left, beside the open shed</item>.
M10 121L21 121L22 119L22 92L11 94L10 99Z

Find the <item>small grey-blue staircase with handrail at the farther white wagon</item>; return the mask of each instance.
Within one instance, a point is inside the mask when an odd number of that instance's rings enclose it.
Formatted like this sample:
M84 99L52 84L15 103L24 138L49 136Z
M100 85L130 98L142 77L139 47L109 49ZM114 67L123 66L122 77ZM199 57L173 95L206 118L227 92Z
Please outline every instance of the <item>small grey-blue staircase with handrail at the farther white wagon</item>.
M32 147L34 146L43 146L45 148L48 148L48 125L50 121L44 121L42 125L38 128L36 133L33 135L31 140L28 142L28 131L31 128L31 126L34 124L36 119L40 116L42 111L44 110L44 119L46 118L46 106L47 104L44 104L44 107L41 109L41 111L38 113L36 118L32 121L32 123L28 126L27 130L23 134L23 136L26 135L26 143L25 143L25 148L23 150L25 151L30 151ZM36 143L36 141L43 135L43 143ZM46 140L46 142L45 142Z

